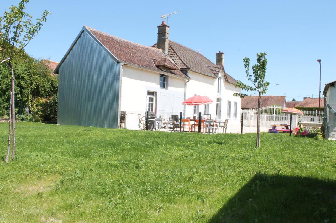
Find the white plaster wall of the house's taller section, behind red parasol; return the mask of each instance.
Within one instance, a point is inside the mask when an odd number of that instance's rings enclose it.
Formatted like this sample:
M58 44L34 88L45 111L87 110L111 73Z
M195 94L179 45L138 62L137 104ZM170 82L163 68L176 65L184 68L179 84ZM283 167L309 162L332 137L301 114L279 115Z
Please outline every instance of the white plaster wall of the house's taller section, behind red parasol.
M187 83L186 98L196 95L208 96L213 100L212 104L209 104L209 114L211 117L216 117L216 98L221 98L221 119L227 119L227 101L231 101L231 118L230 124L240 124L241 118L241 98L234 97L235 92L241 92L240 88L236 88L235 85L227 83L223 78L223 73L219 74L222 77L221 81L221 93L217 94L217 79L208 77L203 74L199 74L193 71L189 71L189 77L191 80ZM234 102L237 102L237 119L234 118ZM204 105L199 105L199 111L203 113ZM194 114L194 106L186 105L185 116L192 117Z

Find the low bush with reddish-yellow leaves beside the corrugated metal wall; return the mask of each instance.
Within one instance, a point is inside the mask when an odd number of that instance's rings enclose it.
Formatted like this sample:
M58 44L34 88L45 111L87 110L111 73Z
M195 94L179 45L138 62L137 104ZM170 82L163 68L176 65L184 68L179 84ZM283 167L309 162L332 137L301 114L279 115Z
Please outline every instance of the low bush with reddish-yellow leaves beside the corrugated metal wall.
M49 98L35 98L30 104L33 119L38 119L41 122L56 123L57 101L57 94Z

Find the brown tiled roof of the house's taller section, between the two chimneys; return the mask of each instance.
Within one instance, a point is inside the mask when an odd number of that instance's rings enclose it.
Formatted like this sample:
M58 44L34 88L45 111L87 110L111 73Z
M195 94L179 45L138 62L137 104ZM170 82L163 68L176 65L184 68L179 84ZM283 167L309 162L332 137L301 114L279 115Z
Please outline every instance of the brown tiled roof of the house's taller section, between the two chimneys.
M157 46L156 43L152 47L156 49ZM202 54L172 40L169 40L168 55L181 70L191 70L213 78L216 78L220 71L223 70L228 83L237 83L237 80L225 72L222 65L215 65Z

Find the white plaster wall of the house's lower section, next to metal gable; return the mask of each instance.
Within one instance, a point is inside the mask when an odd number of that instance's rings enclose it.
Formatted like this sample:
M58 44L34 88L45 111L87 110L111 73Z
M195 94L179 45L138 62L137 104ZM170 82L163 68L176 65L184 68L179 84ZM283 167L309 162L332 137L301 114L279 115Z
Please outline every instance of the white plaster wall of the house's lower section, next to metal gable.
M184 79L169 76L167 89L161 89L159 73L124 65L121 110L144 114L147 109L147 91L150 90L157 92L157 113L161 108L167 109L167 114L183 111L184 83Z

